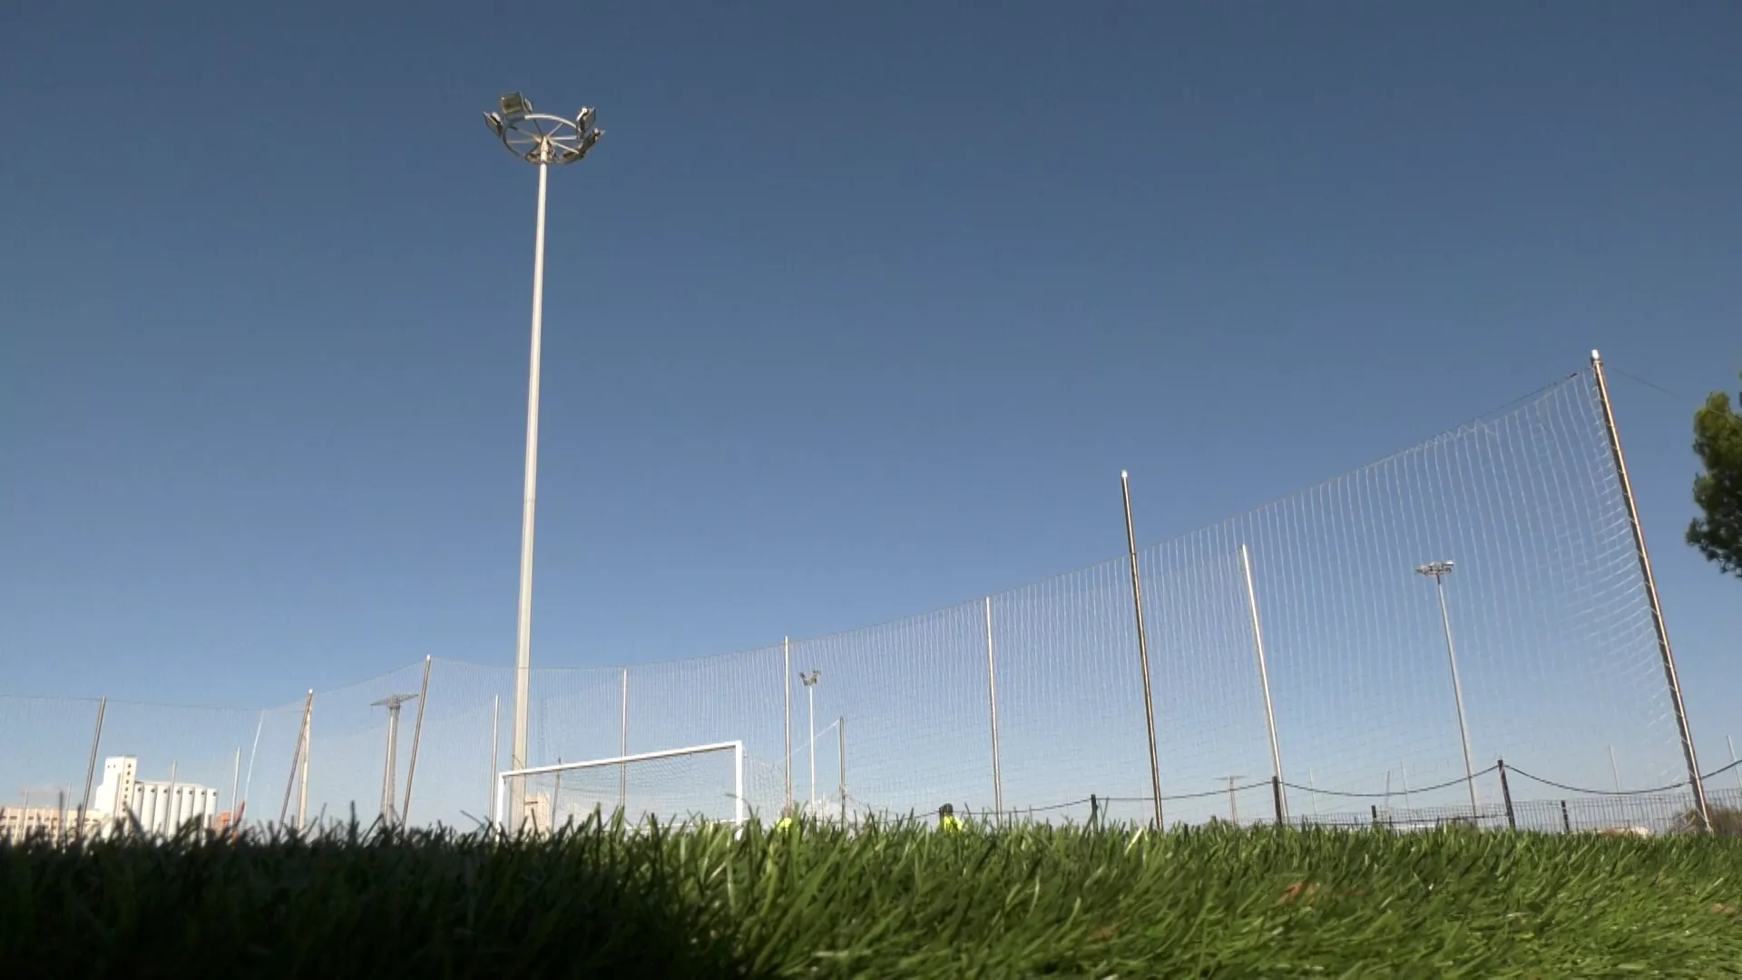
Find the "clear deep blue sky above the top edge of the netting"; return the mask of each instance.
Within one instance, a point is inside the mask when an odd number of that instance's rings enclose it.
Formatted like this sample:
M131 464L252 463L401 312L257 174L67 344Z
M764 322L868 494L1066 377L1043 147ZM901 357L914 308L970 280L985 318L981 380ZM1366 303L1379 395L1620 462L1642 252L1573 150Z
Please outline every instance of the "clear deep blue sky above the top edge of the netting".
M415 12L411 12L415 10ZM1735 3L21 5L0 16L0 691L280 704L845 630L1613 378L1681 544L1742 368Z

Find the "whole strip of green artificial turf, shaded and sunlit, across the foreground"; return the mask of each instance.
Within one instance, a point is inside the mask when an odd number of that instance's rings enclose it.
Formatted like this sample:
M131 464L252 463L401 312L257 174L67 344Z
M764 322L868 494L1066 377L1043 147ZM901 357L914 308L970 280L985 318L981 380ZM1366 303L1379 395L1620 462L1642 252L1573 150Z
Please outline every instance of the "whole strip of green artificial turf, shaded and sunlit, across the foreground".
M7 977L1742 977L1742 842L587 825L0 844Z

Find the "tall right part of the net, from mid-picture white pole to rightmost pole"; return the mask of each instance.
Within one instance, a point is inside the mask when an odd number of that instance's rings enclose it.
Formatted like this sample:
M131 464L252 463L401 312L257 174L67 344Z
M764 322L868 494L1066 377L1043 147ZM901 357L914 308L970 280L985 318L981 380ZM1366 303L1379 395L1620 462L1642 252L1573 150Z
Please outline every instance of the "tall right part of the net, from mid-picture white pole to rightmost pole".
M1451 563L1444 616L1416 572L1435 561ZM993 598L1007 799L1087 790L1148 816L1118 565ZM1505 757L1601 786L1615 746L1641 781L1686 778L1589 375L1144 548L1139 568L1169 821L1226 820L1218 786L1268 781L1272 718L1291 811L1367 806L1326 793L1469 806L1463 731L1477 774ZM1268 795L1233 806L1272 816ZM1477 800L1498 802L1491 776Z

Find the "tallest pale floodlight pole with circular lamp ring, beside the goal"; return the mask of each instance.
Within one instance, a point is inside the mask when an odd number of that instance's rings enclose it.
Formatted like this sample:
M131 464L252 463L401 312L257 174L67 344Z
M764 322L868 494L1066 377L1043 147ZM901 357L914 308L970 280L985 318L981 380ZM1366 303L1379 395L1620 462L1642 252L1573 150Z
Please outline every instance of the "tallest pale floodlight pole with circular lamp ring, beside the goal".
M533 103L519 92L500 99L500 112L486 112L484 122L516 157L538 167L538 230L533 239L533 342L531 370L526 382L526 493L521 507L521 600L514 647L514 750L510 769L526 767L526 701L531 685L533 649L533 513L538 500L538 356L544 342L544 213L545 183L552 164L578 164L604 131L594 126L594 110L584 108L575 119L535 113ZM524 786L514 781L509 813L516 825L524 816Z

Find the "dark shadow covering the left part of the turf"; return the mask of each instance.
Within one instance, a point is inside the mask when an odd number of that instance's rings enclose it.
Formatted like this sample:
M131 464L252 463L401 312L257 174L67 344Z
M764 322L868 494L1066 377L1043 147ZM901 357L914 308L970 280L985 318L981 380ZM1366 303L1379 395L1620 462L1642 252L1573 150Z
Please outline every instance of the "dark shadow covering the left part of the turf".
M754 975L679 827L131 830L0 842L7 977Z

